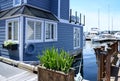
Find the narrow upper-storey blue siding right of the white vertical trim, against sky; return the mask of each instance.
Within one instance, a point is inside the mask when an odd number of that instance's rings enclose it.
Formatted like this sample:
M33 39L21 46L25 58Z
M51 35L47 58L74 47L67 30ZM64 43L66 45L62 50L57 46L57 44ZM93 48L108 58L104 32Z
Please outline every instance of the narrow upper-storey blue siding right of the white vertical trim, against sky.
M69 20L69 0L60 0L60 18Z

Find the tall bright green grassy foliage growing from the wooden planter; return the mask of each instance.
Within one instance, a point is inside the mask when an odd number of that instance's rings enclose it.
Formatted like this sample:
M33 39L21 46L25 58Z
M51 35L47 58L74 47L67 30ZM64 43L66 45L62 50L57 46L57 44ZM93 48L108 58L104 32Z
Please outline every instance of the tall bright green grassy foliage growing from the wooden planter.
M61 50L60 53L57 49L49 48L43 51L43 55L38 55L40 63L48 69L62 71L68 73L73 63L73 57L67 52Z

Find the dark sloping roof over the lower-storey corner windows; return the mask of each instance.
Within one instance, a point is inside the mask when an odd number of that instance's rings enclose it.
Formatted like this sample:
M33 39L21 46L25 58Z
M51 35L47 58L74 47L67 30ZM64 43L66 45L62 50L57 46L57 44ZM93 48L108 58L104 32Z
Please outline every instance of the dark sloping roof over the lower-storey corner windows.
M28 5L22 5L5 11L1 11L0 18L12 17L19 14L58 21L58 19L51 12L37 9Z

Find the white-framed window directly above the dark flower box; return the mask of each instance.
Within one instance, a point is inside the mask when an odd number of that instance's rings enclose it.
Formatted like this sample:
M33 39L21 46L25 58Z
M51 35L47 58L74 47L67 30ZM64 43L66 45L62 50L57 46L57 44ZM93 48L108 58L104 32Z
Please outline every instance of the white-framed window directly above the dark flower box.
M6 21L6 40L18 41L19 39L19 19L9 19Z

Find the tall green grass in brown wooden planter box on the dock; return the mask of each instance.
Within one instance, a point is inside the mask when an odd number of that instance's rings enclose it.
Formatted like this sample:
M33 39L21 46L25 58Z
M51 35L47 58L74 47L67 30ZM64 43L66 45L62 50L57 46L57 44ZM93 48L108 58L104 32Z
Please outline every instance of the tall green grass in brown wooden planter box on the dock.
M74 81L73 57L64 50L46 49L38 59L38 81Z

